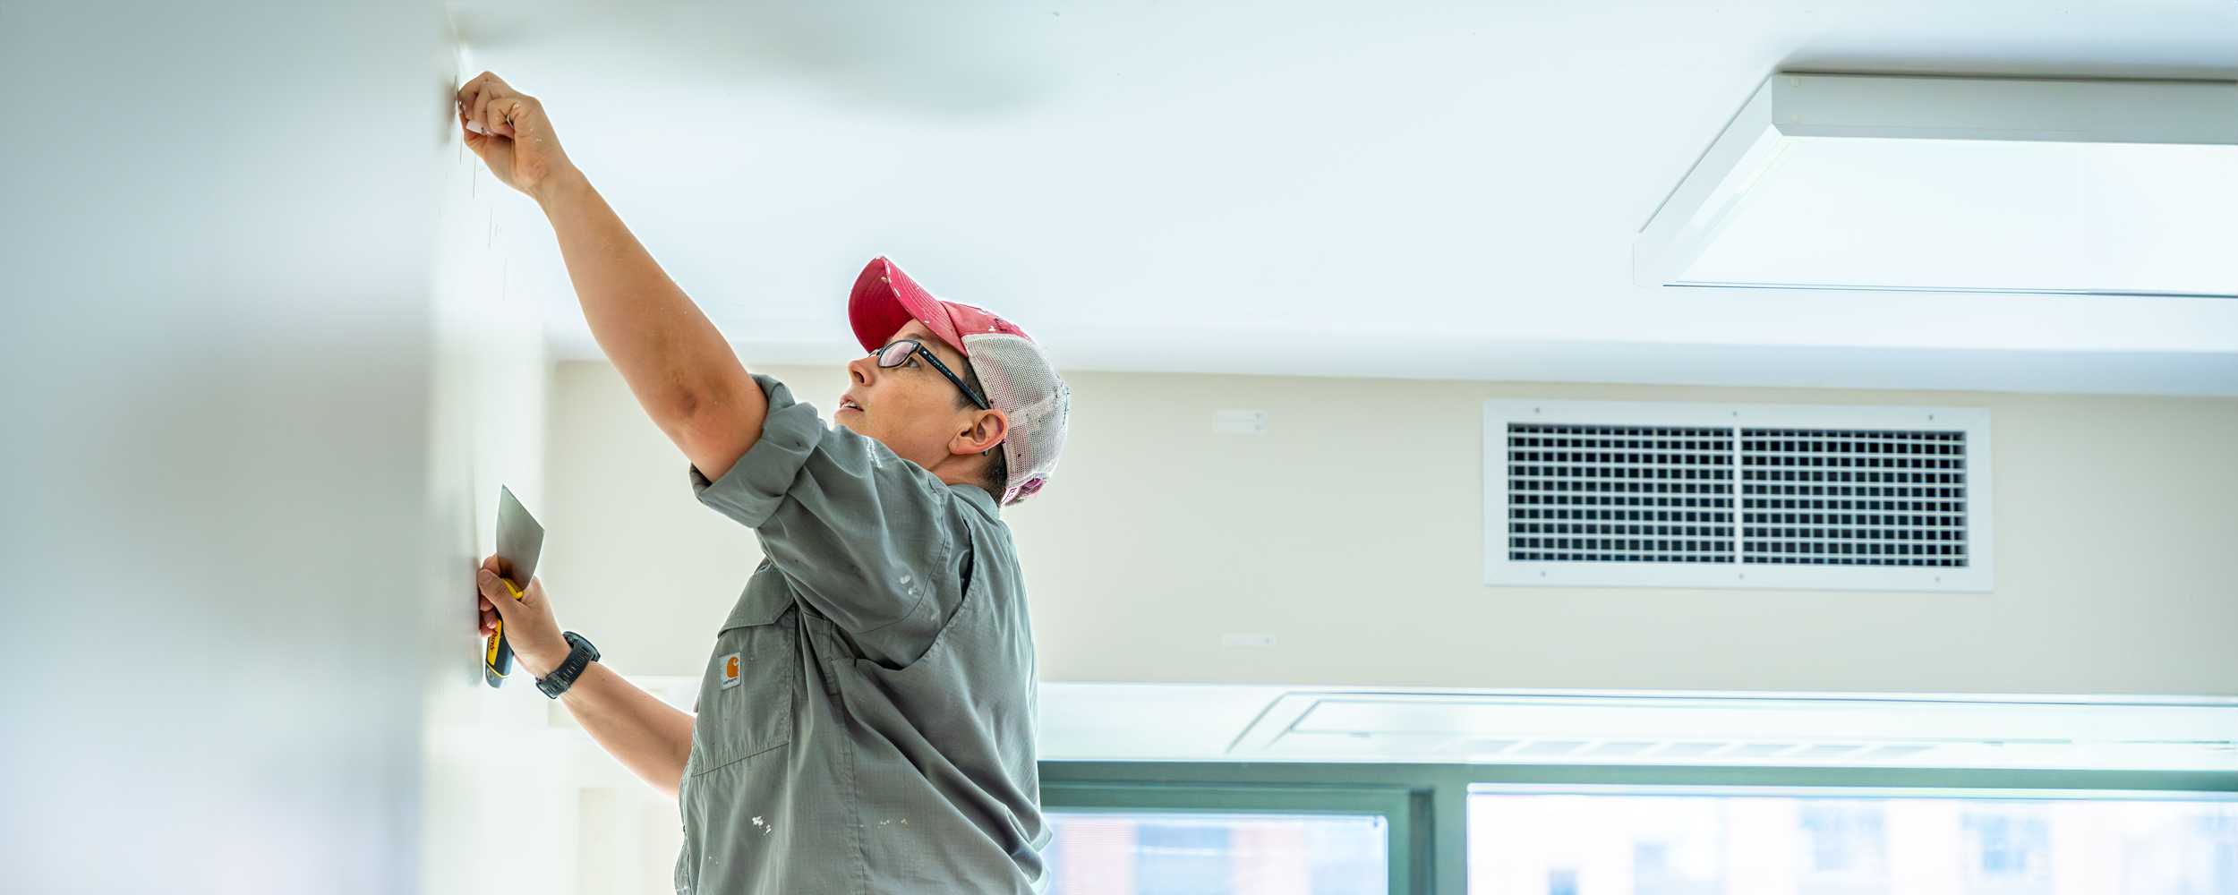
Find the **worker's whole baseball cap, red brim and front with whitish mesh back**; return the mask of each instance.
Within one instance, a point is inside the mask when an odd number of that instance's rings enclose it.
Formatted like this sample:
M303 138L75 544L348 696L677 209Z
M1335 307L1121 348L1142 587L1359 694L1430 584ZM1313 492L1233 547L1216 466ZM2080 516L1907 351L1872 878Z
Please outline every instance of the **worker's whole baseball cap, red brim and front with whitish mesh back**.
M1003 459L1009 483L1003 503L1034 497L1065 450L1072 389L1025 329L971 304L942 302L884 257L871 260L846 300L848 324L864 351L886 347L911 320L971 360L987 403L1009 418Z

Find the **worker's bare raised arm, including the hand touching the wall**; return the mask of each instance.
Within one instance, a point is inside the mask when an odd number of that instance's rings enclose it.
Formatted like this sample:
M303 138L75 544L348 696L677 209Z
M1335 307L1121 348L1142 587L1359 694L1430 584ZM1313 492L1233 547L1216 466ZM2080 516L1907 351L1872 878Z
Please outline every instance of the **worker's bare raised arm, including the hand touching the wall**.
M591 336L638 405L700 474L730 472L768 414L739 354L568 161L535 96L483 72L459 87L459 123L499 181L544 206Z

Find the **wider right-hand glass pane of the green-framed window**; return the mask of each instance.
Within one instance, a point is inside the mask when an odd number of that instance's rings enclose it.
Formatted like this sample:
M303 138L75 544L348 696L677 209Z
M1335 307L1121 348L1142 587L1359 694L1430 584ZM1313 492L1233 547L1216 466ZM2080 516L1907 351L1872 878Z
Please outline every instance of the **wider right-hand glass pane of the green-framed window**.
M1468 797L1470 895L2238 895L2238 803Z

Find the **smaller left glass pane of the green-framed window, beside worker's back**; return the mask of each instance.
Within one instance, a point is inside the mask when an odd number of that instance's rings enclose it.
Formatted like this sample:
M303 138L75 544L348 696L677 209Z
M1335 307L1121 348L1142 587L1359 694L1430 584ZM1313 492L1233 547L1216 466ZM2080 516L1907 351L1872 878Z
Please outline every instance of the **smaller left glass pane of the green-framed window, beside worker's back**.
M1381 814L1050 812L1050 895L1385 895Z

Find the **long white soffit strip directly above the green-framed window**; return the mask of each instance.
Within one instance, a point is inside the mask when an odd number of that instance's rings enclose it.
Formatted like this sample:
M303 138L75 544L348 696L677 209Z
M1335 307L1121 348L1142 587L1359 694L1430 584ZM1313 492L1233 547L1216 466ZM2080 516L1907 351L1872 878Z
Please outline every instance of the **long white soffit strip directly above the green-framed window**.
M2227 696L1041 682L1045 761L2238 770Z

